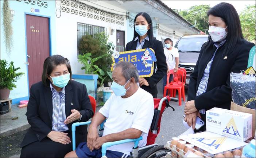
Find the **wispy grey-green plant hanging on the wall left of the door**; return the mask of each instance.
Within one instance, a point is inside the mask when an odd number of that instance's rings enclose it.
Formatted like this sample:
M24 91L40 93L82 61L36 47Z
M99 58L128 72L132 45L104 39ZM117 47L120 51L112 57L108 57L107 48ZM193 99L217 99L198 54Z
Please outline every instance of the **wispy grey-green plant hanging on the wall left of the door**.
M5 48L7 53L10 53L12 49L12 16L8 0L3 1L2 15Z

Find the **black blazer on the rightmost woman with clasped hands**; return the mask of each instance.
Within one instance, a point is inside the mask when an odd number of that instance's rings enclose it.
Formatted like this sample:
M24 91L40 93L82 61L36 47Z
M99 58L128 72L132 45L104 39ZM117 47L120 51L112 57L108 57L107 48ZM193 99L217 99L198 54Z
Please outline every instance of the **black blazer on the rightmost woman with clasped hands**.
M225 44L221 46L217 50L212 63L206 93L196 97L203 72L216 50L214 45L206 50L205 45L202 46L194 72L190 75L187 100L194 100L195 108L198 110L209 110L213 107L230 109L232 101L230 73L240 73L240 70L247 69L249 51L254 44L246 40L238 42L233 51L228 53L226 59L223 56Z

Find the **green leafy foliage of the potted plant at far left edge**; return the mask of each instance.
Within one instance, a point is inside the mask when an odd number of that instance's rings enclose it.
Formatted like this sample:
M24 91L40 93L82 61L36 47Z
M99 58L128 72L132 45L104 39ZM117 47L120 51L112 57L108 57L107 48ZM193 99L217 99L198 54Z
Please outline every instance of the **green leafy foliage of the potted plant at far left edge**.
M13 82L16 82L23 74L23 72L16 73L20 68L14 68L13 61L7 66L6 60L1 60L1 89L12 90L16 88L16 85Z

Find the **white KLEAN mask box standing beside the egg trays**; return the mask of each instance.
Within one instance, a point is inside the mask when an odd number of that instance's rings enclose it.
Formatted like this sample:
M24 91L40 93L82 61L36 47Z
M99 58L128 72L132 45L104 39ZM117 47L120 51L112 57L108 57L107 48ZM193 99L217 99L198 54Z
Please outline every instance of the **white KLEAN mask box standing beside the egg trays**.
M252 114L212 108L206 111L206 130L244 142L252 137Z

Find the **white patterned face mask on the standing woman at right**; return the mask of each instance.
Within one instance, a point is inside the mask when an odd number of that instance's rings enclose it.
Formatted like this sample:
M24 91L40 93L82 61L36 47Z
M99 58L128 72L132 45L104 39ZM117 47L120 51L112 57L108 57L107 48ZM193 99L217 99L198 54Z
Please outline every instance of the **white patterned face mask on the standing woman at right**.
M225 30L226 28L210 26L208 32L214 42L219 42L226 38L227 36L227 32Z

